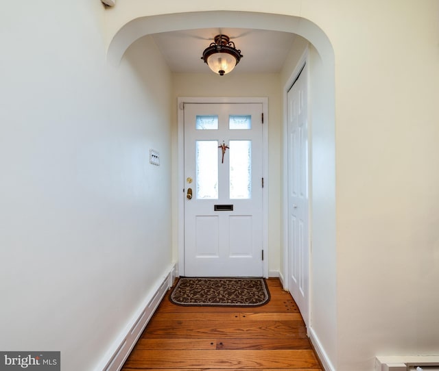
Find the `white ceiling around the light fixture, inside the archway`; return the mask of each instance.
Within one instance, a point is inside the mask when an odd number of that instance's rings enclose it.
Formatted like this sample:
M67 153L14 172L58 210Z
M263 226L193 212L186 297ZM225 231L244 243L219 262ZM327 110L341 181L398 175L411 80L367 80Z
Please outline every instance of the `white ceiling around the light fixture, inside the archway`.
M242 28L209 28L154 34L158 49L172 72L207 73L202 53L218 34L230 37L244 57L233 73L278 73L292 47L295 34Z

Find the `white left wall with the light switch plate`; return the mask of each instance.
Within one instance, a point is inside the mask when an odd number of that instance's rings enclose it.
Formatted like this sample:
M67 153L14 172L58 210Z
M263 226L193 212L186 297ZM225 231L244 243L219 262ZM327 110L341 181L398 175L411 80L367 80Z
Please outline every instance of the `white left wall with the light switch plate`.
M63 371L93 370L171 264L171 75L150 38L107 66L103 16L0 12L0 349Z

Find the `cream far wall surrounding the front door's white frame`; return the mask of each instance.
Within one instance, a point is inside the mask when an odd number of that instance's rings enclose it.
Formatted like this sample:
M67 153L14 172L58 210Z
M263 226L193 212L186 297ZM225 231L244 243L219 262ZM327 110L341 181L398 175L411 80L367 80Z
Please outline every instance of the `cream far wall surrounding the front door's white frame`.
M206 67L207 68L207 67ZM238 67L237 67L238 68ZM213 86L215 88L213 88ZM178 164L177 145L177 98L178 97L268 97L268 257L269 271L280 270L281 250L281 92L279 90L279 75L268 74L234 74L218 77L207 68L206 73L175 73L173 75L174 109L174 138L173 160ZM173 171L173 184L178 187L177 169ZM175 189L175 194L179 194ZM174 199L177 208L177 200ZM174 213L174 226L177 225ZM176 231L174 231L176 236ZM174 240L174 259L177 255L177 241Z

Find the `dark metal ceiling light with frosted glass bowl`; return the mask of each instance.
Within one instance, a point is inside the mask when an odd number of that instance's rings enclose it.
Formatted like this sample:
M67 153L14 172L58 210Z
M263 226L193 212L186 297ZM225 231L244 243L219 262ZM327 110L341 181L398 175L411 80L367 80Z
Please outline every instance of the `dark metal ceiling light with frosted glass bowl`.
M243 57L241 51L235 48L235 42L226 35L217 35L208 48L204 49L201 57L214 73L226 75L235 68Z

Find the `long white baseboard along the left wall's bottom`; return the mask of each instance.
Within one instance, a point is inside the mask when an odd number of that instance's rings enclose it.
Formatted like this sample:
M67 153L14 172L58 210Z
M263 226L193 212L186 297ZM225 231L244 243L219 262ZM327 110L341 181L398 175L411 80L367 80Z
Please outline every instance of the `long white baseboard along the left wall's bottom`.
M143 305L130 319L128 325L115 342L113 342L104 359L95 368L95 371L119 371L122 368L123 363L128 358L128 355L130 355L132 348L134 348L141 333L161 303L163 296L165 296L169 287L173 285L175 277L176 265L174 264L167 270L156 286L153 287Z

